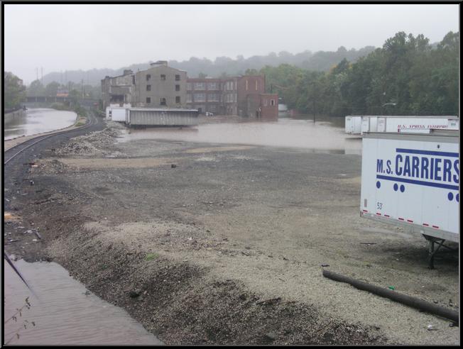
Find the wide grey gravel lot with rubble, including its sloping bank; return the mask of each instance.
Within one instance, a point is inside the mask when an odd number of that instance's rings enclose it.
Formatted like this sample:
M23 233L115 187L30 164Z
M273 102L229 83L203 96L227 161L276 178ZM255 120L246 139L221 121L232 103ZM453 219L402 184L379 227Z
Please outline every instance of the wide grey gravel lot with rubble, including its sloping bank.
M458 343L450 321L322 277L458 310L453 255L428 270L423 238L359 217L359 156L119 143L108 124L6 186L9 253L60 262L168 344Z

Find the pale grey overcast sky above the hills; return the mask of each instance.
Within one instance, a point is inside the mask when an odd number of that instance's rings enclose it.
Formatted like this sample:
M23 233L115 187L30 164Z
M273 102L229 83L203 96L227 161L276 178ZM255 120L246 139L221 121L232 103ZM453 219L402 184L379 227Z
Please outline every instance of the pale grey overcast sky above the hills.
M459 31L458 5L6 4L4 64L30 83L36 67L45 75L191 56L349 50L379 47L398 31L440 41Z

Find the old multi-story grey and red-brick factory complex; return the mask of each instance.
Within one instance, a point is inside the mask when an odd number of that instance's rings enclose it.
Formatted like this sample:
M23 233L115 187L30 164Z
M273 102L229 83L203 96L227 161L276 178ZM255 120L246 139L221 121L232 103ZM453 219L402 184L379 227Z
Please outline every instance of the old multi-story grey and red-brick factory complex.
M263 75L188 79L187 72L160 60L147 70L124 70L118 77L102 79L103 105L190 108L200 113L276 119L278 96L266 94L265 84Z

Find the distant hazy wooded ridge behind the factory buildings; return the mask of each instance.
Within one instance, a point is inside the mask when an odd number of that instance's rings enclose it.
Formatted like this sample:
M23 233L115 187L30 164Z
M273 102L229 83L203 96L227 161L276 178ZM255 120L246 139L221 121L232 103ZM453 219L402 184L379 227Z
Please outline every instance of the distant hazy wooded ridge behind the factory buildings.
M295 65L307 70L327 71L333 65L337 65L344 58L349 62L355 62L359 57L368 55L374 51L373 46L366 46L360 50L347 50L344 46L338 48L337 51L318 51L312 53L309 50L293 55L290 52L281 51L278 54L271 52L268 55L255 55L249 58L244 58L239 55L236 59L229 57L217 57L214 61L207 58L191 57L190 60L178 62L176 60L169 60L170 67L175 67L180 70L186 70L188 77L197 77L198 74L204 73L209 77L220 77L223 74L237 75L244 74L248 69L260 70L266 65L276 67L280 64L286 63ZM165 60L168 57L155 57L153 61ZM153 62L138 63L128 67L121 67L119 69L92 69L92 70L67 70L65 72L50 72L43 76L43 84L50 82L59 82L65 84L67 82L80 83L82 80L84 84L99 85L101 79L107 75L117 76L122 74L124 69L131 69L136 72L137 70L144 70L149 67Z

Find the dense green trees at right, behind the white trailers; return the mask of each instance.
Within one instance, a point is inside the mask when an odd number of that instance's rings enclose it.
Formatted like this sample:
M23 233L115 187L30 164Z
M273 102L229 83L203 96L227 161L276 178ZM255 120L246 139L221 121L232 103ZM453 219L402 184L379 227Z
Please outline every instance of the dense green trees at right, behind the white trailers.
M294 65L263 67L267 92L290 109L329 116L349 114L458 115L459 33L437 45L423 35L397 33L356 62L328 72Z

